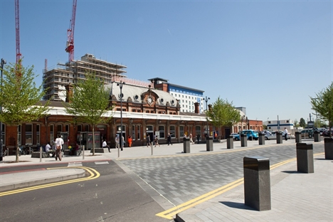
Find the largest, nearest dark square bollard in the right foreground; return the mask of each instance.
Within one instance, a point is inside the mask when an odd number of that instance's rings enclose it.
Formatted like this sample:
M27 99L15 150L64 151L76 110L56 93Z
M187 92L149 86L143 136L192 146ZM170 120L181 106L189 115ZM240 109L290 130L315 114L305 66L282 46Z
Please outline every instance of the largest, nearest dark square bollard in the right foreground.
M270 160L265 157L244 157L245 205L268 211L270 204Z

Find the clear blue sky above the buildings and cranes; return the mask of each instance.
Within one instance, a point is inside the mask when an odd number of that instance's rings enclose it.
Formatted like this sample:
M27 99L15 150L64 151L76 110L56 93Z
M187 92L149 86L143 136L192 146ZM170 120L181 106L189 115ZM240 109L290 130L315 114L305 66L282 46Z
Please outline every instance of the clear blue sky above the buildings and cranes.
M333 81L332 1L81 1L75 60L86 53L245 107L250 120L309 120ZM20 0L23 66L41 85L65 52L72 0ZM0 0L0 58L16 62L14 0Z

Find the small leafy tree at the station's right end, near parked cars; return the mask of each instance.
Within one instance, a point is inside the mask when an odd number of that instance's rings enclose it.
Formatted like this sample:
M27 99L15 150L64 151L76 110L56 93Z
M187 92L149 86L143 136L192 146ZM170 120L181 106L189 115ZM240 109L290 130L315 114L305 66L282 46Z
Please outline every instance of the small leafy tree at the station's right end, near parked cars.
M218 97L216 102L213 102L211 109L206 110L206 117L221 132L221 127L232 127L239 122L240 113L233 107L233 102ZM221 139L221 134L218 135L218 139Z

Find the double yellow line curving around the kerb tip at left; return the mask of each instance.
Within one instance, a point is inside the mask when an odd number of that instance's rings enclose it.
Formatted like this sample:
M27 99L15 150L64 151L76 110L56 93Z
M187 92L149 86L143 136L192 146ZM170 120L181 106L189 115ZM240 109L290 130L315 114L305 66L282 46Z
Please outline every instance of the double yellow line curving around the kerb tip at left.
M71 180L67 180L67 181L60 181L60 182L55 182L55 183L51 183L51 184L43 184L43 185L38 185L38 186L30 186L30 187L26 187L23 189L16 189L13 191L6 191L6 192L2 192L0 193L0 196L6 196L6 195L11 195L11 194L18 194L18 193L22 193L22 192L26 192L26 191L33 191L36 189L43 189L43 188L48 188L48 187L52 187L52 186L60 186L60 185L64 185L64 184L72 184L72 183L76 183L76 182L80 182L80 181L88 181L90 179L96 179L98 177L100 177L100 173L98 171L96 171L95 169L92 169L90 167L85 167L85 166L70 166L70 167L56 167L56 168L48 168L48 169L68 169L68 168L80 168L80 169L84 169L85 171L87 171L90 176L88 177L83 177L80 179L71 179Z

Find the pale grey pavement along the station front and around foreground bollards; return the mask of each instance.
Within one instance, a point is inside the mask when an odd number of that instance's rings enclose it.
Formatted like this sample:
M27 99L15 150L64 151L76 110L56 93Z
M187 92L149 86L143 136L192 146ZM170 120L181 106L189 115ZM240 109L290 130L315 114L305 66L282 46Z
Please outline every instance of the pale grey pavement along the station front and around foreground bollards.
M323 139L322 139L323 140ZM307 144L313 139L303 139ZM288 139L282 144L295 144L295 139ZM324 142L315 142L322 145ZM276 145L276 140L265 141L260 147ZM142 157L169 157L184 155L183 144L160 147L125 147L123 151L111 149L112 152L91 155L85 151L85 156L65 156L61 162L70 164L78 162L101 162ZM258 141L248 141L248 147L240 147L240 142L234 142L234 149L258 147ZM226 152L226 141L213 144L214 150L209 153ZM224 148L224 149L223 149ZM191 144L189 155L203 154L206 144ZM230 149L229 149L230 150ZM188 154L186 154L188 155ZM37 184L76 179L85 176L83 168L56 168L59 161L54 158L31 158L31 155L19 157L20 162L14 162L14 156L4 157L0 162L0 196L9 189L20 189ZM50 169L35 169L31 171L5 172L12 166L27 166L54 164ZM184 207L174 216L176 221L333 221L333 160L324 159L324 154L314 155L314 173L305 174L297 171L296 159L270 166L270 198L271 209L257 211L244 203L244 186L242 181L229 184L223 191L212 195L210 199L197 201L196 204ZM167 210L167 209L166 209Z

